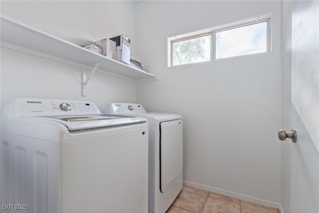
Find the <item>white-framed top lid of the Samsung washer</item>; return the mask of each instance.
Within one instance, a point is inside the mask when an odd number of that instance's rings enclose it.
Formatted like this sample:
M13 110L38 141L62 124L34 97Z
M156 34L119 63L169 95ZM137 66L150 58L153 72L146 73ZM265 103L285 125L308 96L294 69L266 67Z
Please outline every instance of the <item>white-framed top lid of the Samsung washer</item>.
M76 116L37 116L32 118L58 122L66 126L68 130L91 129L146 122L146 119L141 117L107 114Z

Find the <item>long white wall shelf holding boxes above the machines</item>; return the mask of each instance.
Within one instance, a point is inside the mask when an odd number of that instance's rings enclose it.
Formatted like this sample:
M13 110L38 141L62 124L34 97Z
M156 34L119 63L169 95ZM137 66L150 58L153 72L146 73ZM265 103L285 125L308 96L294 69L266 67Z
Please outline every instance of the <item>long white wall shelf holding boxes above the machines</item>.
M157 79L155 75L87 50L74 43L1 17L1 41L54 55L81 64L101 61L99 69L134 80Z

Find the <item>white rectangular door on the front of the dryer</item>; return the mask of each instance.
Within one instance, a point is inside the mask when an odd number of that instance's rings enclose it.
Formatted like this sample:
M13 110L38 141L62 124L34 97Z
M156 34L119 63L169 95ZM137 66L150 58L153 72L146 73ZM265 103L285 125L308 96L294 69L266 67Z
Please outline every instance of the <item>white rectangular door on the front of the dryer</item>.
M160 123L160 191L181 189L183 168L182 120Z

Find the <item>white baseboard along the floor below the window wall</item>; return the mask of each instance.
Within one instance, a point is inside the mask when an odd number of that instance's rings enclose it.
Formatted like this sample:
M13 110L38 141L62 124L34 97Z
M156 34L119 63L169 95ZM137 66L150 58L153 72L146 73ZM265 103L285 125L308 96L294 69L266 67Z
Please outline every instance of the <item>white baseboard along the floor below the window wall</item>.
M221 189L217 189L217 188L213 188L213 187L209 187L209 186L205 186L205 185L201 185L201 184L195 184L195 183L188 182L188 181L183 181L183 185L188 186L188 187L194 187L194 188L201 189L201 190L205 190L208 192L217 193L217 194L232 197L232 198L236 198L236 199L243 200L243 201L252 202L255 204L264 205L267 207L276 208L276 209L279 209L280 213L284 213L282 208L281 208L281 205L273 203L273 202L269 202L269 201L265 201L262 199L253 198L250 196L241 195L238 193L233 193L233 192L229 192L226 190L221 190Z

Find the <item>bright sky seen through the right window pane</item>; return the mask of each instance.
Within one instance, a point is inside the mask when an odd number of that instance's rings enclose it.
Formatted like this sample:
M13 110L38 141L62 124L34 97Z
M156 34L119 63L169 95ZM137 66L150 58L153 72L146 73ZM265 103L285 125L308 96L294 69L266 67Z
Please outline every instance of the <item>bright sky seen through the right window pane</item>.
M216 32L216 59L267 52L267 21Z

